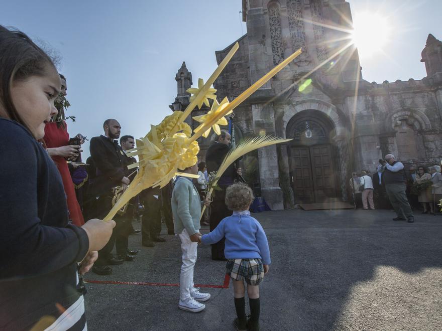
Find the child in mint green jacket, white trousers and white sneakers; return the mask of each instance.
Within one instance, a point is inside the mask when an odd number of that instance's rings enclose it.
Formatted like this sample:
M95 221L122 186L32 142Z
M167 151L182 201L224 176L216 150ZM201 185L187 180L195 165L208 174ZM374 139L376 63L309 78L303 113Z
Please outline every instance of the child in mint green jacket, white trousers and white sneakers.
M197 165L186 168L184 173L196 175ZM209 201L204 201L209 205ZM183 253L180 273L180 300L178 307L190 312L198 312L205 308L201 302L210 298L209 293L201 293L193 287L193 267L196 262L196 248L198 245L199 219L201 216L201 201L192 179L178 177L172 192L172 214L175 235L181 239Z

